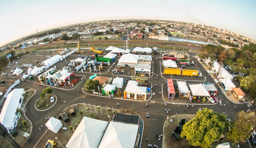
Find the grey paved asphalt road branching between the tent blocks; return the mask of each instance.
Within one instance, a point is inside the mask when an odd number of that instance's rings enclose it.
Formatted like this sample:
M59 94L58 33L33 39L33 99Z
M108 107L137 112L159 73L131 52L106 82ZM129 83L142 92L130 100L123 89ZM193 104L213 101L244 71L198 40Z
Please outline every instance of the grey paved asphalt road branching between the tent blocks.
M192 53L191 53L192 54ZM195 62L197 65L196 67L203 73L204 76L206 76L205 82L209 81L210 83L215 83L215 81L208 76L207 71L203 68L203 66L193 57L192 60ZM156 74L160 74L160 68L159 68L159 61L160 60L155 60L154 59L154 72ZM191 65L195 66L195 65ZM113 68L113 67L112 67ZM112 69L110 69L112 70ZM86 77L88 78L89 73L84 73ZM111 76L110 76L111 75ZM112 77L112 74L106 73L102 74L102 76L110 76ZM181 77L180 77L181 78ZM155 77L150 77L148 79L151 83L153 84L158 84L158 86L161 86L163 84L162 79L156 80ZM195 78L196 80L196 78ZM85 81L84 81L85 83ZM37 143L37 141L40 139L40 137L44 134L44 130L39 131L38 127L40 125L44 125L46 123L45 117L48 116L57 116L60 112L62 112L66 107L72 104L77 104L77 103L90 103L90 104L95 104L95 105L101 105L101 106L108 106L108 107L116 107L116 104L119 103L119 107L122 107L124 110L126 109L135 109L135 112L138 113L142 119L144 120L144 132L143 132L143 137L142 137L142 148L147 147L148 143L151 144L157 144L160 147L162 147L162 140L158 141L155 138L155 135L159 135L163 133L163 124L167 118L165 107L163 105L164 100L162 97L159 97L157 94L156 96L152 97L150 100L147 101L130 101L130 100L121 100L121 99L108 99L107 97L97 97L97 96L90 96L82 93L82 87L83 84L78 85L75 88L75 92L72 90L62 90L62 89L54 89L54 95L58 97L57 103L54 105L53 108L50 108L46 111L37 111L34 108L34 103L35 100L39 98L39 93L42 92L42 89L46 88L45 85L41 85L38 83L32 83L30 81L24 81L21 82L21 85L24 85L26 87L34 88L37 90L35 95L31 97L31 99L27 102L25 106L25 114L27 118L32 122L33 124L33 129L31 132L31 140L30 143L25 143L23 147L26 148L32 148L34 145ZM203 83L199 81L188 81L187 83ZM78 91L81 92L81 94L78 94ZM159 92L161 91L161 87L154 88L153 87L153 92ZM169 116L172 116L178 111L178 113L186 113L186 114L195 114L198 110L198 108L210 108L213 109L214 111L217 111L219 113L225 112L228 118L231 120L234 119L235 113L238 111L241 111L242 106L239 104L234 104L231 101L229 101L225 95L221 95L221 93L218 93L219 99L223 99L223 104L226 104L226 107L219 107L218 104L212 105L212 104L207 104L207 105L199 105L199 104L194 104L193 109L188 108L186 112L184 112L185 109L185 104L167 104L167 108L170 108L170 113L168 114ZM156 102L156 99L158 101ZM63 104L62 100L66 100L67 104ZM146 102L148 103L148 107L146 107ZM236 109L233 109L233 107L237 105ZM146 113L150 114L150 118L146 118ZM146 138L149 140L146 142Z

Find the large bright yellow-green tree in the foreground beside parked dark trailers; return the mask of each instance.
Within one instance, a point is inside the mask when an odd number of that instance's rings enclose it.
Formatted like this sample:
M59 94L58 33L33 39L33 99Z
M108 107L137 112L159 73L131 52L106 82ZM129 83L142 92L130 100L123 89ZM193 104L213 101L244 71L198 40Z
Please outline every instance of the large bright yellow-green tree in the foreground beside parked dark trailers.
M226 115L203 108L196 113L196 117L183 125L181 137L186 136L188 143L194 147L209 148L229 125Z

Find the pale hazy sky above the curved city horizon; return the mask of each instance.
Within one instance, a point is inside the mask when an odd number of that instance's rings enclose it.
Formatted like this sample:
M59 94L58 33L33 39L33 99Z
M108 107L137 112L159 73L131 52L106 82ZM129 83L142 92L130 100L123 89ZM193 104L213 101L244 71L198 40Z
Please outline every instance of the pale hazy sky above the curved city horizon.
M0 0L0 47L60 24L116 19L204 23L256 40L255 6L256 0Z

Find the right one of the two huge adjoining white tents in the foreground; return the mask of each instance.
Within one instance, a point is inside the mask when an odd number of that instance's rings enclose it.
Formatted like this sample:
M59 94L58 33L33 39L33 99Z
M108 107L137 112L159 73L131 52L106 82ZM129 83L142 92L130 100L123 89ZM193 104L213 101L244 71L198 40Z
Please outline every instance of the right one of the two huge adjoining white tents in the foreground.
M139 125L110 121L98 148L133 148Z

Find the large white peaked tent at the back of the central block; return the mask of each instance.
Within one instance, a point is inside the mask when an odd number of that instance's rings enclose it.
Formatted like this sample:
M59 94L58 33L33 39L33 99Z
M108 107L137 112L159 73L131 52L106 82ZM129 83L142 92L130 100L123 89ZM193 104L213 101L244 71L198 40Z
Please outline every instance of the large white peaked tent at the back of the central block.
M132 53L127 53L120 57L118 60L118 65L127 65L130 67L135 67L138 63L139 55L135 55Z

